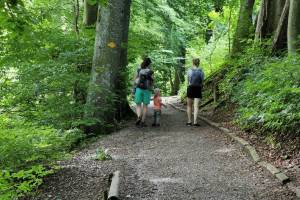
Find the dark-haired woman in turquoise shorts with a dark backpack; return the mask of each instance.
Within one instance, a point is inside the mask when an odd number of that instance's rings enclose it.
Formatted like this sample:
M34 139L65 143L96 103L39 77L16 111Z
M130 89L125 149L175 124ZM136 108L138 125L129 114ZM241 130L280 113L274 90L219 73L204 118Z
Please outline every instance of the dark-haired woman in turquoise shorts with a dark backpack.
M151 59L144 58L141 68L137 70L135 77L136 90L134 95L134 101L136 103L137 120L136 125L142 127L147 126L145 123L148 105L150 104L151 92L150 89L153 84L153 71L149 68Z

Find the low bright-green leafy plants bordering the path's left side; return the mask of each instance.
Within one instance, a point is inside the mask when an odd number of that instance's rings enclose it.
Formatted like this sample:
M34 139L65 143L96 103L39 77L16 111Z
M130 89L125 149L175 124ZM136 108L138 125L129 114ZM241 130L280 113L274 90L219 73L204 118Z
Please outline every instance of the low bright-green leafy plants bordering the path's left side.
M0 199L12 199L33 190L52 173L53 161L62 158L80 131L60 132L22 119L0 119Z

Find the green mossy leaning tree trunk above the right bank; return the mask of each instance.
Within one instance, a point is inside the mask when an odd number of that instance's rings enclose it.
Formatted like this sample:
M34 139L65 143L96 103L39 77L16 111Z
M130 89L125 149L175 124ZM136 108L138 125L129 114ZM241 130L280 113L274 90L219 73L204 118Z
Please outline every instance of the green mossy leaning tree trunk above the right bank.
M240 14L232 46L232 55L239 53L247 44L247 39L254 32L252 12L255 0L240 0Z

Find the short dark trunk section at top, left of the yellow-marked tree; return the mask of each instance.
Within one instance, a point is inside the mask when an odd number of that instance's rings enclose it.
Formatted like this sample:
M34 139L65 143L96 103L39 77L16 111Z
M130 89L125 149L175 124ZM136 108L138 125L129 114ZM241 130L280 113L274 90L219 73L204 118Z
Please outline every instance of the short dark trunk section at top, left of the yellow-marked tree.
M98 3L91 5L88 0L84 0L83 24L92 26L97 21Z

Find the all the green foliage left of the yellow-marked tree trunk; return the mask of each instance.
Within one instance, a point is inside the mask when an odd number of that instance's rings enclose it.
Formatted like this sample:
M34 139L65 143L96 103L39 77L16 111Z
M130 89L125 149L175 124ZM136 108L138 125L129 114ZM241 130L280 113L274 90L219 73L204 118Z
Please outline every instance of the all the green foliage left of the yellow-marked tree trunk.
M0 199L32 191L83 139L94 32L69 1L0 2Z

